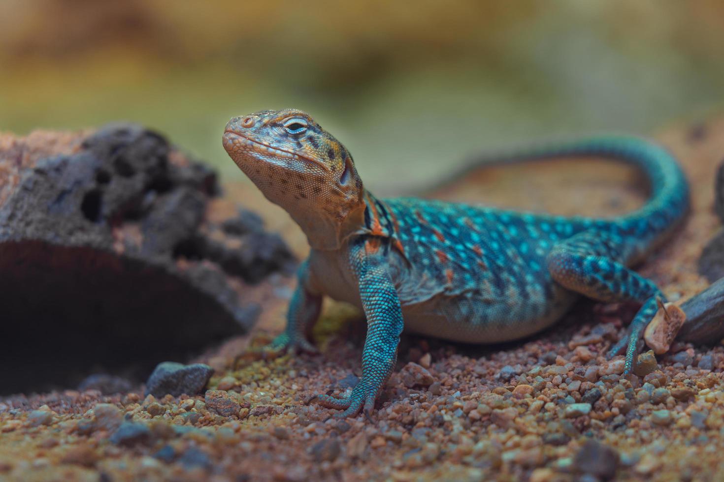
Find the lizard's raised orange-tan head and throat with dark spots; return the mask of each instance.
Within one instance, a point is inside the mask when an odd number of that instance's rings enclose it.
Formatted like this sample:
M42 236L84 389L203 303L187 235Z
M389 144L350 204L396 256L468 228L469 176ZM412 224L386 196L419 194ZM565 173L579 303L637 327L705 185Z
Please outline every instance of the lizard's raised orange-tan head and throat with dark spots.
M313 247L334 249L363 223L364 189L352 156L307 113L284 109L235 117L223 143L264 196L301 226Z

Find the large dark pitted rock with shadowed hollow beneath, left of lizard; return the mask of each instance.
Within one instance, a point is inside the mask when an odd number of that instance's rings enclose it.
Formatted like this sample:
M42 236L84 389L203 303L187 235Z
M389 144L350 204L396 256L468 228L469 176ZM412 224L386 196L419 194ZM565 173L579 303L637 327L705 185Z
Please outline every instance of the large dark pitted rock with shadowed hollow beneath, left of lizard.
M108 126L34 159L33 145L12 147L0 151L0 393L98 371L146 379L248 330L258 306L244 287L292 270L260 223L224 231L253 215L207 219L215 173L159 134Z

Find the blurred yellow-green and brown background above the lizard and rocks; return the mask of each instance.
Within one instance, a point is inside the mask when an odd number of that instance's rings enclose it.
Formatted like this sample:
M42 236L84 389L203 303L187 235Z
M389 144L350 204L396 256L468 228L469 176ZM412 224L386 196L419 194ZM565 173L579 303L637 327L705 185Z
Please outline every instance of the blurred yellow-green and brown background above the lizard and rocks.
M723 105L717 0L2 0L0 130L130 120L243 178L226 121L311 113L390 194L523 139Z

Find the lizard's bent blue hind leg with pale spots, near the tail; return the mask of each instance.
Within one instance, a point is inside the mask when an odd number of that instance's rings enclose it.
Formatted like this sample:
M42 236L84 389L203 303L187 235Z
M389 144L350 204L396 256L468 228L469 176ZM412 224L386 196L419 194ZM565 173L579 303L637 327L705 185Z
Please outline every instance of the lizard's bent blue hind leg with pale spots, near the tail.
M665 301L659 288L619 262L623 258L618 239L595 233L581 233L554 246L547 257L552 278L568 290L607 302L634 301L641 308L633 317L628 336L609 352L614 356L626 346L624 374L631 373L636 345L657 312L657 298Z

